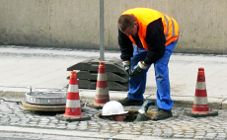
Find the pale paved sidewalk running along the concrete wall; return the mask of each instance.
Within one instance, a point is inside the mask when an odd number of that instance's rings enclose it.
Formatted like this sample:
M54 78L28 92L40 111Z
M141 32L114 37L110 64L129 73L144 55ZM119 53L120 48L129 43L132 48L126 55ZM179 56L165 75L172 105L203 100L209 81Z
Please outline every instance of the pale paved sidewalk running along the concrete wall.
M0 93L17 97L37 90L56 90L68 84L66 69L78 62L98 58L99 51L0 46ZM119 52L106 51L106 60L119 59ZM227 56L173 54L169 63L171 96L175 106L192 107L197 71L205 69L209 106L227 109ZM146 98L154 99L156 84L151 66L147 77ZM80 89L81 99L94 99L94 90ZM111 99L125 98L127 92L110 91Z

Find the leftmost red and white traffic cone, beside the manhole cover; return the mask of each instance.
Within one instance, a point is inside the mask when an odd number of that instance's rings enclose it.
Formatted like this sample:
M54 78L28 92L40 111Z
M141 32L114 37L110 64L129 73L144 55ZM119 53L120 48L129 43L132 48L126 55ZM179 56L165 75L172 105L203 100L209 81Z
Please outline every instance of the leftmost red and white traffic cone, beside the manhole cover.
M81 121L91 118L90 116L85 116L81 113L76 71L72 71L70 75L65 114L57 115L56 118L68 121Z

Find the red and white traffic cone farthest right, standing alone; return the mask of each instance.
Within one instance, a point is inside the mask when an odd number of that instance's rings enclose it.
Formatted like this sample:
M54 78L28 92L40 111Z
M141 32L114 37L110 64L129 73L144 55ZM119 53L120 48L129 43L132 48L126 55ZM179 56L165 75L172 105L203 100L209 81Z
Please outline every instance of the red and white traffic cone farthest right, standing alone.
M217 111L212 111L208 107L204 68L198 69L193 108L186 114L193 117L218 115Z

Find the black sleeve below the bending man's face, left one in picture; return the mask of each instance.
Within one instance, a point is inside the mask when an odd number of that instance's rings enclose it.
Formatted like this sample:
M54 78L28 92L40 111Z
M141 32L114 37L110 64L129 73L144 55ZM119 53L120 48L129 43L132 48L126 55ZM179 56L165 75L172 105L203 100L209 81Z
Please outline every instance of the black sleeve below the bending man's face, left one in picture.
M119 29L118 29L118 44L121 50L120 56L121 59L123 61L130 60L130 58L133 56L132 42L129 39L129 37L122 33Z

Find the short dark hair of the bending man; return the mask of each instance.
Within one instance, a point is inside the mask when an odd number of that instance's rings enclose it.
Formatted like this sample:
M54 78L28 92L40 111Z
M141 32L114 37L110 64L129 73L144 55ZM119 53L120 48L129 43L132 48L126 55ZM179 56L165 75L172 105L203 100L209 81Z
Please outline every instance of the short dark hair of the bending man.
M136 21L136 18L133 15L121 15L118 18L118 28L121 31L125 31L128 27L133 28L134 22Z

